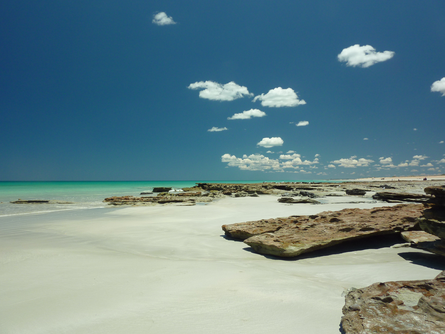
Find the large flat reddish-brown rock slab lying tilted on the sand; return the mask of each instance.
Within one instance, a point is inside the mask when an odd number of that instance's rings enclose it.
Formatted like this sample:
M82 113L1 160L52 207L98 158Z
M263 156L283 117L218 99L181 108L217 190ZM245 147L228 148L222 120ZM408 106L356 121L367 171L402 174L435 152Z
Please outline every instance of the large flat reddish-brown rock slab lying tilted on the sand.
M418 230L415 220L423 209L421 204L344 209L223 225L223 230L228 236L245 239L258 253L294 257L344 241Z

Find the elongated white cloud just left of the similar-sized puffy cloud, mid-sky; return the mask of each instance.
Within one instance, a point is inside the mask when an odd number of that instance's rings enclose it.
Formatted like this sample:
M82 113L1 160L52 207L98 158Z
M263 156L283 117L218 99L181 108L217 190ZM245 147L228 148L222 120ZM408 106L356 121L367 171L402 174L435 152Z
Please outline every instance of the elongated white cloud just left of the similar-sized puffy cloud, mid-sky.
M237 98L243 98L244 95L253 96L252 93L249 93L247 87L239 86L234 81L225 85L214 81L197 81L187 88L191 90L202 89L199 92L199 97L213 101L233 101Z

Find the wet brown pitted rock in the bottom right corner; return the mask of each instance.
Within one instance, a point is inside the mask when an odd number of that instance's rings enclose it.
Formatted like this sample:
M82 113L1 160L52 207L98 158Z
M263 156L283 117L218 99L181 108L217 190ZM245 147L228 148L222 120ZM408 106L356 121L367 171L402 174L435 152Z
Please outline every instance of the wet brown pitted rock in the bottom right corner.
M374 283L345 297L346 334L445 333L445 271L432 280Z

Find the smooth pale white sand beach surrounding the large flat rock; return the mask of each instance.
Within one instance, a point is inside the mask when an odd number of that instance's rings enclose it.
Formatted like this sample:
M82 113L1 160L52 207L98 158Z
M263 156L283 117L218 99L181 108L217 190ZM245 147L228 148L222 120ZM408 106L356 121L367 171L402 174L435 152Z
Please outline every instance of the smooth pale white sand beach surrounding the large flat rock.
M385 205L259 196L1 217L0 333L337 334L344 289L445 265L389 247L268 258L221 225Z

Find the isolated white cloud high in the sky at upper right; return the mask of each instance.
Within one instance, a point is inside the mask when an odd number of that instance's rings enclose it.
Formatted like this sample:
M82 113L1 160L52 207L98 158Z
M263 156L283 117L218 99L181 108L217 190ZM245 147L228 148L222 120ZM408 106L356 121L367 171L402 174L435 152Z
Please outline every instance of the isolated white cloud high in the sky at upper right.
M346 61L348 66L369 67L394 56L393 51L376 52L371 45L352 45L339 53L338 60Z

